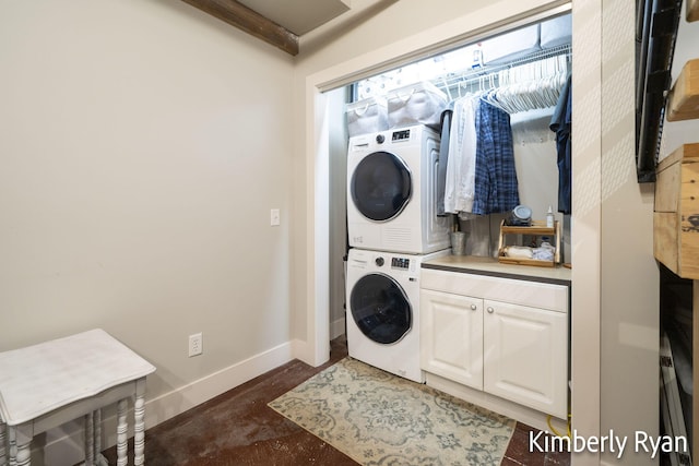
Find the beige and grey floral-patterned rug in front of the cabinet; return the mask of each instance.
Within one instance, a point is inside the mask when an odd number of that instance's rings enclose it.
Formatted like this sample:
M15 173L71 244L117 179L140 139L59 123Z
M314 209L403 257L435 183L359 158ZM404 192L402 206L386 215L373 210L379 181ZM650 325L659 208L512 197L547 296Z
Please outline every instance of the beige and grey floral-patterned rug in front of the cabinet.
M363 465L499 465L516 423L352 358L269 406Z

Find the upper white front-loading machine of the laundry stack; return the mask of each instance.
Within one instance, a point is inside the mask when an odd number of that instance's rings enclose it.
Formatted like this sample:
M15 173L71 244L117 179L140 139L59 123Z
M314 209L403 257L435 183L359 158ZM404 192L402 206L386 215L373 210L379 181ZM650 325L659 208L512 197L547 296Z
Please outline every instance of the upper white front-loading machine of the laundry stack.
M450 216L437 216L439 135L415 126L350 140L350 247L424 254L449 248Z

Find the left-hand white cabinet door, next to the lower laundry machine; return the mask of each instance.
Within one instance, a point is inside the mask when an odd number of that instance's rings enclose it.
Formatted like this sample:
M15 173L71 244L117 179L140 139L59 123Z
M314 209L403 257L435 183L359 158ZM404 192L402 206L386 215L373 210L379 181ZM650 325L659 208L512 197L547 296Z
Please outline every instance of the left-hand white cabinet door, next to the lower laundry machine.
M483 300L420 290L422 369L483 390Z

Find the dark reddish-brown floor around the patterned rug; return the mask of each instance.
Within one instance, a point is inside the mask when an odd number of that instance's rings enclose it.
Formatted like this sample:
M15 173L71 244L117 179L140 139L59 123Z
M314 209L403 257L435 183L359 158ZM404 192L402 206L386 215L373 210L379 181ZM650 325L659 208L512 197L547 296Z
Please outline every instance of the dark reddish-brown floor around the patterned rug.
M331 358L312 368L291 361L182 413L145 432L149 466L357 465L352 458L279 415L266 404L347 356L343 338L331 344ZM529 432L518 423L502 465L569 465L569 454L530 453ZM133 445L129 464L133 464ZM105 452L116 464L116 449Z

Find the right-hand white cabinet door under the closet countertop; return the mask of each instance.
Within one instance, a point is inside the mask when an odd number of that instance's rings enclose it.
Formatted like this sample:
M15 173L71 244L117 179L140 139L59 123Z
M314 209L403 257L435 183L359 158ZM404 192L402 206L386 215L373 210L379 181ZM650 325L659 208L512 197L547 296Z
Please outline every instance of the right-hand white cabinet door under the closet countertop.
M484 301L484 390L568 417L568 314Z

